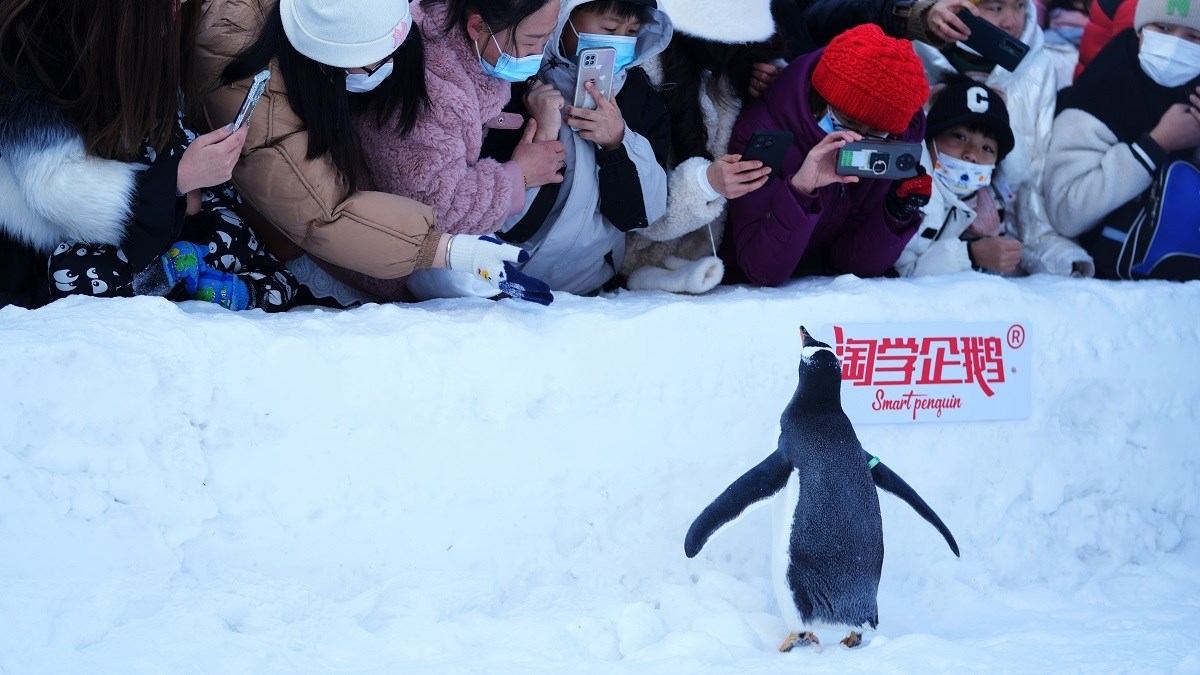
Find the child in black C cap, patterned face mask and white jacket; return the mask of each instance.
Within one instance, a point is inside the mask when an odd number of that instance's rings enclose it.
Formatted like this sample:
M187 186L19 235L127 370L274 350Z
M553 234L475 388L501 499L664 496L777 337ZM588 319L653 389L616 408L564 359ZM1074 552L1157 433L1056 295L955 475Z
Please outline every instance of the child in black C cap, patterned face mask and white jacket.
M997 172L1013 150L1008 108L996 90L962 79L948 84L929 110L926 169L934 193L924 219L895 263L901 276L977 269L1022 275L1043 269L1091 276L1091 258L1079 245L1040 233L1030 246L1015 196ZM1052 258L1046 261L1045 258Z

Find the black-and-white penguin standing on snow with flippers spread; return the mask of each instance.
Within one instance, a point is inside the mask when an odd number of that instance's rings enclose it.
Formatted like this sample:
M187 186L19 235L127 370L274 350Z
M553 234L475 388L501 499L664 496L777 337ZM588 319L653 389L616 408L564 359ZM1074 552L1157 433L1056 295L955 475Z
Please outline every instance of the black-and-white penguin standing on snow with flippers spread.
M820 644L815 627L848 629L847 647L880 621L883 522L876 488L928 520L959 555L942 519L899 476L863 449L841 410L841 364L800 327L799 383L780 418L779 446L710 503L688 530L684 554L695 557L718 528L746 507L775 502L772 573L791 634L779 651Z

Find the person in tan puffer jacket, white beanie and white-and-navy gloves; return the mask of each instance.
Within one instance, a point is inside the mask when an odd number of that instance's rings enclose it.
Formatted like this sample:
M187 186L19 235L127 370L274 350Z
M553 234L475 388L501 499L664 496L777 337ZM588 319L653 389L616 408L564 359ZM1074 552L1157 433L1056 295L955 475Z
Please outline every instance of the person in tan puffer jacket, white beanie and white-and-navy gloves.
M233 181L276 255L290 261L307 253L366 291L354 299L372 299L372 279L446 267L469 268L520 295L512 282L523 280L509 279L504 264L516 262L520 249L442 234L430 207L360 189L365 172L349 110L380 110L386 119L426 101L424 72L401 72L406 49L420 49L412 28L408 4L391 0L336 7L317 0L209 0L196 44L204 121L220 127L233 120L253 73L270 70Z

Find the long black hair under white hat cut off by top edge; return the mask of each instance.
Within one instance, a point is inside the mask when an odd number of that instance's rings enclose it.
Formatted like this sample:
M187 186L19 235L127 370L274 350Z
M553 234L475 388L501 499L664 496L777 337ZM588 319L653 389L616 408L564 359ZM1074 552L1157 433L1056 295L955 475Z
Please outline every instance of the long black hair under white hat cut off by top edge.
M768 42L722 44L677 32L660 56L662 60L662 101L671 114L671 156L674 162L688 157L714 160L708 151L708 127L697 103L703 73L725 78L733 95L745 104L750 100L750 76L754 64L770 62L784 54L776 35ZM719 94L722 95L722 94ZM733 101L726 101L733 103Z

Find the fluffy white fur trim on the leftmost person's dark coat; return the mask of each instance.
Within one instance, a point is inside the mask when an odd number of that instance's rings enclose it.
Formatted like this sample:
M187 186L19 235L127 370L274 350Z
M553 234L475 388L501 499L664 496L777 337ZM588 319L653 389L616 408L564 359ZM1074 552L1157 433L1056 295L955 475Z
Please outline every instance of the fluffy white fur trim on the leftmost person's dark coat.
M60 110L0 83L0 232L10 238L42 253L66 240L120 244L144 168L88 155Z

